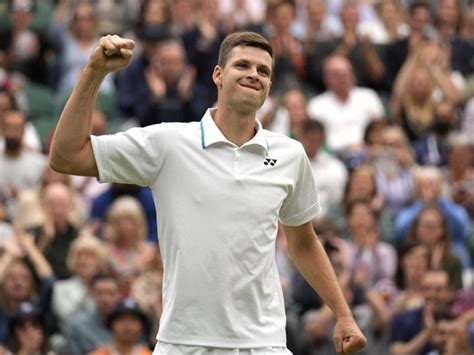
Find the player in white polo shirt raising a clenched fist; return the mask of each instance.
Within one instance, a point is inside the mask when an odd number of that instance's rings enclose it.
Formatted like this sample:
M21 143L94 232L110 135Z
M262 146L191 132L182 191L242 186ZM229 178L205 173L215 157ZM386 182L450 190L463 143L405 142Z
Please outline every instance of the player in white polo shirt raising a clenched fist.
M154 354L289 354L275 264L278 221L295 265L337 319L336 350L362 348L311 220L319 211L298 142L255 119L268 96L273 52L260 35L229 35L213 80L216 109L200 122L90 135L100 82L128 65L134 43L102 37L59 120L50 154L63 173L149 186L164 264Z

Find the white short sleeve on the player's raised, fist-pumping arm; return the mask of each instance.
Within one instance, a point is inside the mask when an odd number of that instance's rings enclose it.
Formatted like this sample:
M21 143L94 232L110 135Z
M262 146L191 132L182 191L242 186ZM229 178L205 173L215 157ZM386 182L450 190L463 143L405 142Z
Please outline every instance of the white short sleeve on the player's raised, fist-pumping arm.
M100 182L150 186L166 156L167 124L92 136Z

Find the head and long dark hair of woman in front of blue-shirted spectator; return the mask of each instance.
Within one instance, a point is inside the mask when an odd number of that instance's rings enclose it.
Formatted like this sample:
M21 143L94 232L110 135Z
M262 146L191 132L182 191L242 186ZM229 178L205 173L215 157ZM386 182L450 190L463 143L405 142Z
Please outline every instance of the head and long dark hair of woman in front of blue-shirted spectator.
M443 269L451 284L460 289L462 283L462 265L459 258L451 252L451 236L446 218L436 207L425 207L416 217L408 240L420 242L428 249L430 269Z

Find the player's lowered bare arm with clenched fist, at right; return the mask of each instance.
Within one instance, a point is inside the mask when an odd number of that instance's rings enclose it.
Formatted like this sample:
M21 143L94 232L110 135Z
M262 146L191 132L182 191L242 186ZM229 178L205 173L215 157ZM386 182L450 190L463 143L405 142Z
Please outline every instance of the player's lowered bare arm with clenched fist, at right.
M296 227L283 226L283 229L288 253L297 269L334 313L336 352L351 354L362 349L367 339L354 321L336 274L311 222Z

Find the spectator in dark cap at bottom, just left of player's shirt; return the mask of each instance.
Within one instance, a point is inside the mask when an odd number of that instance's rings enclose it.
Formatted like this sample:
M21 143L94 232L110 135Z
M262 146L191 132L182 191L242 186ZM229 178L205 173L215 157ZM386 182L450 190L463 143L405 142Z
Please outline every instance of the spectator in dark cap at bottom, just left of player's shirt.
M112 341L88 355L151 355L151 350L141 343L141 339L147 338L148 318L133 299L121 301L109 315L107 325L112 331Z

